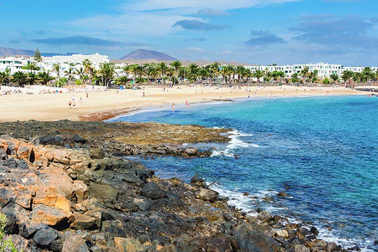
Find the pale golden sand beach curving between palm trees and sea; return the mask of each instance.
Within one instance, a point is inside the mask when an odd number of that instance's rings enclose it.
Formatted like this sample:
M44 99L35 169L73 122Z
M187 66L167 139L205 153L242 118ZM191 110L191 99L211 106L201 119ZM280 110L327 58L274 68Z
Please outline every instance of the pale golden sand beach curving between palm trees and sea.
M251 92L241 89L216 87L189 87L173 88L146 87L142 90L110 90L106 92L90 92L89 99L85 93L65 94L12 94L0 96L0 121L16 120L103 120L128 111L148 106L161 106L170 108L172 103L185 104L185 100L206 102L212 100L225 100L232 98L266 97L273 93L273 97L282 96L310 96L310 95L353 95L366 94L346 88L310 88L310 87L247 87ZM257 90L257 95L254 94ZM327 93L329 91L329 93ZM145 92L145 97L143 97ZM69 108L69 101L75 95L76 109ZM82 97L82 102L80 102Z

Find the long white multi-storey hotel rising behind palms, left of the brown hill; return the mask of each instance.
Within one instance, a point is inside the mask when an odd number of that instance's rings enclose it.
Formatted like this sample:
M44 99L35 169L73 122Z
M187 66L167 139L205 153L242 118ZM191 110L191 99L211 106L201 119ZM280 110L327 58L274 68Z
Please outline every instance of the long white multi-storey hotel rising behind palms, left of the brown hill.
M43 62L45 64L58 64L58 63L75 63L81 64L84 59L89 59L93 65L109 62L109 56L101 55L98 53L95 54L73 54L73 55L55 55L51 57L43 57Z

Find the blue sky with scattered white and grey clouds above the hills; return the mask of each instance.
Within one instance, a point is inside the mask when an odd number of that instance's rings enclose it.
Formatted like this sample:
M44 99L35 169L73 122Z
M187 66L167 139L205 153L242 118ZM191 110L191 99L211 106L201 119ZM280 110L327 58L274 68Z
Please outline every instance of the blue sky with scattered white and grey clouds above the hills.
M378 0L0 0L0 47L378 66Z

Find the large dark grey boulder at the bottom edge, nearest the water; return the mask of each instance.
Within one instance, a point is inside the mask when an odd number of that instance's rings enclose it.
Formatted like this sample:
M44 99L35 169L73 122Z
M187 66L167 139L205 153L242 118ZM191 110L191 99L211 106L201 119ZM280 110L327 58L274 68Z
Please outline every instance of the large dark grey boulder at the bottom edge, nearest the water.
M259 231L250 223L238 226L233 231L233 236L242 251L279 252L281 250L275 239Z

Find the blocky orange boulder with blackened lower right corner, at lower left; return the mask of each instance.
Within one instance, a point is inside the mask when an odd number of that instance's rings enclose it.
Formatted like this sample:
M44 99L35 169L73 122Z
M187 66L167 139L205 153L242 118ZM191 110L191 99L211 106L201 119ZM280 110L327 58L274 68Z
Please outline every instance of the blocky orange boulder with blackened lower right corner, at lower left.
M45 205L34 205L31 219L37 223L42 222L49 226L59 226L61 228L68 226L74 220L71 212Z

